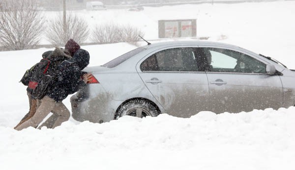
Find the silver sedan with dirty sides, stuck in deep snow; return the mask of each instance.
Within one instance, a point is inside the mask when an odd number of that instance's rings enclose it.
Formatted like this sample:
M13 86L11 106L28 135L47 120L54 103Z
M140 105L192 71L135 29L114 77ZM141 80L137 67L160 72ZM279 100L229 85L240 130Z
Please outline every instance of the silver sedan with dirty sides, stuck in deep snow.
M295 72L278 61L233 45L177 41L129 51L103 66L71 97L77 121L161 113L188 118L295 105Z

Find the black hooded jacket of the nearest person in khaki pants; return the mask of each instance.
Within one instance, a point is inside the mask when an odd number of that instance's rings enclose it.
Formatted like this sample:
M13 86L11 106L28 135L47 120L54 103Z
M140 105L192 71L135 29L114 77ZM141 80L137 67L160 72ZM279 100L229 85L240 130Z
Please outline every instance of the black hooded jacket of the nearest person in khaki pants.
M47 92L47 96L55 101L62 101L86 86L82 80L82 71L89 64L89 53L79 49L72 59L65 60L56 69L56 75Z

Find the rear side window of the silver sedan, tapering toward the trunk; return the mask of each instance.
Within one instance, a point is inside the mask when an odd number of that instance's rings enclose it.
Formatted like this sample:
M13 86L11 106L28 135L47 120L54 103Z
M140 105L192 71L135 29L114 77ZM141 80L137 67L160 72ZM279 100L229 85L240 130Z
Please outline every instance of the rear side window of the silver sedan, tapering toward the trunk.
M140 65L141 71L196 72L197 58L194 48L165 49L149 56Z

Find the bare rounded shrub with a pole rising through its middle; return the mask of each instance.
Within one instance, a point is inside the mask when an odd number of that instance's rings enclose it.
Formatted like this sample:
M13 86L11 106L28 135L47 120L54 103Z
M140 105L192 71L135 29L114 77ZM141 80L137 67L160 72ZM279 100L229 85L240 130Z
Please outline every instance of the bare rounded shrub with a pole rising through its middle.
M59 15L51 20L46 31L46 36L54 45L64 45L70 38L77 43L83 43L89 36L87 21L76 14L67 14L66 24L63 27L63 16Z

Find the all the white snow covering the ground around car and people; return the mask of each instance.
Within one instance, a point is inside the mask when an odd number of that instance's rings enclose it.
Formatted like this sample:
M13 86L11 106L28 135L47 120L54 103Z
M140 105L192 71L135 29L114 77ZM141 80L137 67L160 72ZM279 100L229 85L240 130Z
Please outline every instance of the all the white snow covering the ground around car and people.
M295 69L294 9L295 1L279 1L78 13L92 24L137 25L147 39L157 38L157 20L196 18L199 37L263 53ZM89 66L95 66L136 47L82 48L90 53ZM0 52L0 170L295 170L295 107L204 111L188 119L123 117L102 124L71 118L56 129L16 131L29 110L26 87L18 81L46 50ZM64 103L70 108L69 97Z

